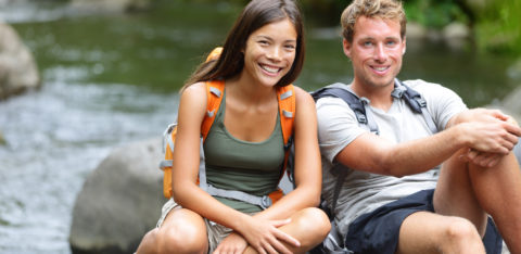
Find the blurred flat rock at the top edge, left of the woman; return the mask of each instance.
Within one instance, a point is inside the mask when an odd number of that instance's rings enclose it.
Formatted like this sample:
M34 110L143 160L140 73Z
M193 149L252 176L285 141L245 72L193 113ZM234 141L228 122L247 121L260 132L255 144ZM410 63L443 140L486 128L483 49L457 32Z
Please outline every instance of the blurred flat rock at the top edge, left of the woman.
M128 12L144 10L151 0L73 0L72 7L84 12Z

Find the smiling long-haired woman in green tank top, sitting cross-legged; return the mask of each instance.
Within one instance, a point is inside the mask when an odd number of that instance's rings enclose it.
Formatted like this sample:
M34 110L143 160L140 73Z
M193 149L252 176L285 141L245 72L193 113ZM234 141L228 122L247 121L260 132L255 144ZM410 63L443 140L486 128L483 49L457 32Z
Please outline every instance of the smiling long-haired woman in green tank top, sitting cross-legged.
M181 90L175 202L165 204L164 220L145 234L138 253L304 253L326 238L329 219L315 207L321 185L315 103L297 87L293 191L263 209L209 195L198 186L206 81L224 80L223 101L203 145L206 181L254 195L277 188L284 162L277 91L296 79L303 62L303 25L295 2L251 1L220 55L203 63Z

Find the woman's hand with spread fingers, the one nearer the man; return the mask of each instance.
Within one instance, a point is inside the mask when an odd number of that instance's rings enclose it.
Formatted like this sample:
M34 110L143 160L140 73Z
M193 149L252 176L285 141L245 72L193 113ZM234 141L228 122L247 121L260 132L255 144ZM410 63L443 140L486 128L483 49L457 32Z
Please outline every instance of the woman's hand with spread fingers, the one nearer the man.
M278 229L289 223L291 223L291 219L265 220L251 217L251 219L244 223L244 227L241 228L241 234L260 254L291 254L292 252L288 250L283 242L295 247L298 247L301 243L290 234Z

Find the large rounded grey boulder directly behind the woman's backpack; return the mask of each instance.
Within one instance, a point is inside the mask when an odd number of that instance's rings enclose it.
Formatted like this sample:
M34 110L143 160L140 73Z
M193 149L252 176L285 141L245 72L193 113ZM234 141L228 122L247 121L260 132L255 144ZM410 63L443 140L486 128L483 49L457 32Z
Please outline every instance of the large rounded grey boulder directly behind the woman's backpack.
M132 253L155 227L163 196L162 141L113 151L86 179L73 211L73 252Z

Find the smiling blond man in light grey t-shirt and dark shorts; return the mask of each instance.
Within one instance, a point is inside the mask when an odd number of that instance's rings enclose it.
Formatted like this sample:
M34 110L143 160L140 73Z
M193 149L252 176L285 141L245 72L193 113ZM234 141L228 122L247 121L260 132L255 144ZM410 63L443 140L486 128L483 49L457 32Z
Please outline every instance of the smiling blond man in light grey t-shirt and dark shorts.
M366 130L342 99L317 101L322 196L334 203L346 247L355 253L500 251L490 215L511 253L521 253L521 175L511 152L520 127L499 111L468 110L440 85L405 81L427 101L437 128L432 131L427 117L392 96L402 86L395 77L406 51L402 4L355 0L341 22L354 80L340 87L369 101L366 113L379 128L379 135Z

